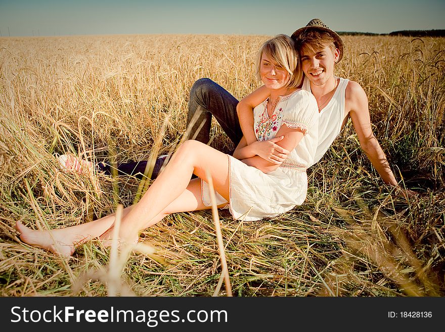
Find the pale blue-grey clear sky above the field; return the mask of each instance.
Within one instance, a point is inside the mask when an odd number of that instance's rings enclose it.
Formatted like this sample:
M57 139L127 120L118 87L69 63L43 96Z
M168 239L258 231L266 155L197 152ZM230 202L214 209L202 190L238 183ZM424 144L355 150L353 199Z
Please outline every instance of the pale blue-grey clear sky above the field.
M445 29L444 0L0 0L2 36Z

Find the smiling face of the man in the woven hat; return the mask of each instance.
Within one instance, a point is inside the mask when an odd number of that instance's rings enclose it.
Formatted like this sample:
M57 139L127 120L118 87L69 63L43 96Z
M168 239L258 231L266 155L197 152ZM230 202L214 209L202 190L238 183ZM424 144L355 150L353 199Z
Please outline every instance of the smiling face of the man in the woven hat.
M306 46L301 49L301 67L311 84L321 86L334 77L334 64L338 61L340 52L324 49L311 51Z

